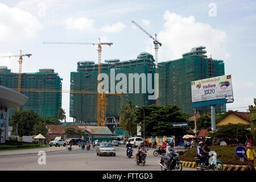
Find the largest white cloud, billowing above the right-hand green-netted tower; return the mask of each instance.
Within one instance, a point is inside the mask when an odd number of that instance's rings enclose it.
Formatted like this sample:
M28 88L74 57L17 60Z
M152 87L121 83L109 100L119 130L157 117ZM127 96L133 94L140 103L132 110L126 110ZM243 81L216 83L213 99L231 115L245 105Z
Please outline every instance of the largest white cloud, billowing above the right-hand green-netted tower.
M159 48L159 62L179 59L183 53L197 46L205 46L207 55L212 55L213 59L225 60L230 56L224 46L224 31L196 22L194 16L185 17L166 11L163 18L164 28L158 34L158 40L163 44ZM147 44L147 51L154 53L152 40Z

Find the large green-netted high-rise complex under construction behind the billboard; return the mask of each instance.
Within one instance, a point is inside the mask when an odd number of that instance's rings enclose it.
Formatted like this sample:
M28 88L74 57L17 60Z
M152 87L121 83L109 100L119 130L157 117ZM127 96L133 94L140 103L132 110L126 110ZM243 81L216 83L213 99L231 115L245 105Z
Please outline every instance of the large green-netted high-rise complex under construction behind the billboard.
M191 99L191 81L200 80L214 76L224 75L224 61L214 60L205 55L205 47L192 48L191 52L184 53L181 59L165 61L159 63L159 99L158 105L177 104L188 115L193 114ZM148 84L147 73L155 73L154 57L149 53L142 52L137 59L120 61L119 59L105 60L101 64L101 73L109 76L109 82L115 78L111 77L111 72L125 73L127 78L129 73L145 73ZM71 90L97 91L97 69L98 65L94 61L79 61L77 72L71 72ZM106 107L106 125L119 127L118 109L121 104L131 100L133 105L151 105L155 100L148 100L148 92L142 93L140 81L139 93L127 93L119 98L118 96L106 96L108 98ZM154 80L151 83L154 87ZM109 87L110 84L109 84ZM129 90L127 84L127 90ZM209 111L209 107L197 108L200 113ZM221 105L216 111L225 110L226 106ZM96 124L97 122L97 94L71 94L70 95L70 117L75 122L85 122ZM117 123L117 124L114 124Z

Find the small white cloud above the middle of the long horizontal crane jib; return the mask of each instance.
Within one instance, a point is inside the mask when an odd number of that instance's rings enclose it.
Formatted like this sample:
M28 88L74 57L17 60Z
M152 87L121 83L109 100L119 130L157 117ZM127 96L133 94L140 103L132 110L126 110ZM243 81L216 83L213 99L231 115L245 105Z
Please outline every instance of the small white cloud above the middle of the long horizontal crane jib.
M90 18L68 18L66 28L69 30L93 31L94 20Z

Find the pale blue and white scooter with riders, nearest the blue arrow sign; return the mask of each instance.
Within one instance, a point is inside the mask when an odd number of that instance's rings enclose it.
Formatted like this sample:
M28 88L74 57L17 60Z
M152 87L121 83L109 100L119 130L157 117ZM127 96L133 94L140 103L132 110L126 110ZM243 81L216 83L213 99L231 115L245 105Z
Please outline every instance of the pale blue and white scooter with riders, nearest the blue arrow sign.
M223 170L223 164L222 162L220 162L220 160L217 160L217 153L216 151L210 151L209 152L209 160L208 160L208 165L206 164L206 160L203 161L203 163L201 163L201 167L199 167L199 163L200 163L200 158L196 157L196 169L197 171L204 171L204 170L211 170L213 169L214 171L222 171ZM203 164L203 167L202 167Z

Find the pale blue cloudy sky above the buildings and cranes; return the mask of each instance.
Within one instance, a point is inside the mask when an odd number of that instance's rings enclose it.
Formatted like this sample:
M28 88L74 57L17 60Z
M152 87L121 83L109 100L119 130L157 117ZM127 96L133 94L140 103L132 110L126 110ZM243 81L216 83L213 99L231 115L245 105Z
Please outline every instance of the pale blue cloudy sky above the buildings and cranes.
M43 42L113 42L102 47L102 62L136 59L145 51L154 55L152 39L131 20L158 34L159 62L205 46L208 57L224 60L225 75L232 74L234 102L227 109L247 111L254 105L256 1L0 0L0 56L32 53L24 57L22 72L53 68L69 90L77 61L97 63L97 47ZM18 72L17 60L0 59L0 66ZM62 107L72 121L68 93Z

